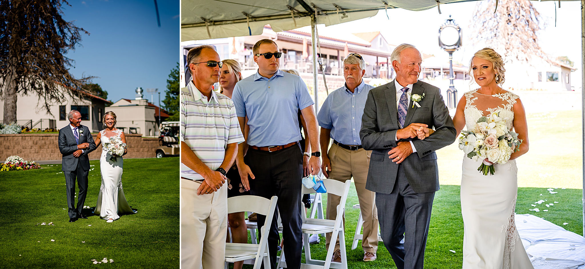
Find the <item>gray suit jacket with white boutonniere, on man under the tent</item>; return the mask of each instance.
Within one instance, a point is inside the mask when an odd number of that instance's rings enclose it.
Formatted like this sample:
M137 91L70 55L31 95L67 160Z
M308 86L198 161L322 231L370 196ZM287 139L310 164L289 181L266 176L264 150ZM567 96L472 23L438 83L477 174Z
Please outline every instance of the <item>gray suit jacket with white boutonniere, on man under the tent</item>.
M424 140L416 138L412 140L417 152L410 154L401 164L393 163L388 158L388 151L397 146L395 137L397 130L400 129L394 81L373 88L368 93L360 130L363 148L372 151L366 189L390 194L397 180L398 165L402 165L413 191L422 193L439 190L435 150L455 141L455 127L441 96L441 90L422 81L412 85L412 94L423 93L425 97L418 102L420 108L417 106L412 108L412 104L409 104L404 126L424 123L429 128L434 127L436 131Z

